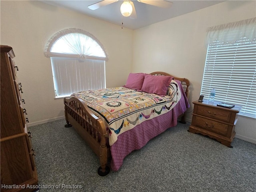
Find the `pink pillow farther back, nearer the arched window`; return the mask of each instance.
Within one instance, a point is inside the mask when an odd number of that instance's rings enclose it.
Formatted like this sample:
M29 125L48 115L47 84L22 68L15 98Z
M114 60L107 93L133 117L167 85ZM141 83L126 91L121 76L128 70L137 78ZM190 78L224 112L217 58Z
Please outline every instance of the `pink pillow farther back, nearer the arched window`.
M141 90L145 73L130 73L124 87Z

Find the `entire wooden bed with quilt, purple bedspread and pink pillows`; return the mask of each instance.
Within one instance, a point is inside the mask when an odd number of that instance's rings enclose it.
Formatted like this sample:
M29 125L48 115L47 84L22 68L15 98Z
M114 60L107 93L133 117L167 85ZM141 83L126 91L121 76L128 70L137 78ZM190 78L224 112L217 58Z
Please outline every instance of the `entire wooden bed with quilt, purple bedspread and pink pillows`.
M160 89L158 80L168 88ZM122 87L85 90L64 98L65 127L73 126L92 148L100 160L98 174L106 176L110 167L118 171L133 150L176 126L179 117L186 123L189 85L188 79L165 72L144 77L130 73Z

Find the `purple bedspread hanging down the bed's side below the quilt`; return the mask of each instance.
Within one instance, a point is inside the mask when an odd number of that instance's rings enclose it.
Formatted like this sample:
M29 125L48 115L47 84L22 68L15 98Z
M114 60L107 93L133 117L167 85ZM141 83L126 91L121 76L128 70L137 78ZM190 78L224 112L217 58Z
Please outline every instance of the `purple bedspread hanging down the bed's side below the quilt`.
M186 108L189 107L184 89L181 83L179 81L177 82L182 92L182 98L170 112L144 121L132 130L124 132L118 137L118 140L110 146L112 155L111 168L113 171L119 170L123 164L124 158L133 150L142 148L152 138L158 136L166 129L177 125L178 116L183 114Z

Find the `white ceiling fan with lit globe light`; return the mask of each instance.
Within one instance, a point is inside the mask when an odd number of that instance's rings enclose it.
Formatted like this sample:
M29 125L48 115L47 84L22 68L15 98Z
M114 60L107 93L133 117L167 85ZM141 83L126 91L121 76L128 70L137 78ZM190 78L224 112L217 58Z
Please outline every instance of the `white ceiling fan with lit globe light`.
M109 5L109 4L117 2L117 1L118 0L102 0L100 2L89 5L88 8L91 10L96 10L100 7ZM161 8L169 8L170 6L172 6L172 2L170 2L168 0L137 0L137 1L141 2L141 3L161 7ZM120 7L120 11L121 11L122 15L125 17L130 16L130 18L132 18L132 19L137 18L136 10L135 10L134 3L132 2L132 0L124 0L124 2L122 3L122 5Z

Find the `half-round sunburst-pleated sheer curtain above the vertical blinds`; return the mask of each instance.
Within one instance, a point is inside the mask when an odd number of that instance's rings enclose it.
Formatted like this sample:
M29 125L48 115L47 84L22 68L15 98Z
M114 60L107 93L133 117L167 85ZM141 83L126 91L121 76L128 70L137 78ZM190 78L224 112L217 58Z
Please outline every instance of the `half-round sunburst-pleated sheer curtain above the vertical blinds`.
M45 46L46 57L108 60L106 51L96 37L77 28L54 34Z

